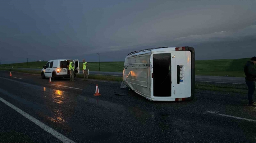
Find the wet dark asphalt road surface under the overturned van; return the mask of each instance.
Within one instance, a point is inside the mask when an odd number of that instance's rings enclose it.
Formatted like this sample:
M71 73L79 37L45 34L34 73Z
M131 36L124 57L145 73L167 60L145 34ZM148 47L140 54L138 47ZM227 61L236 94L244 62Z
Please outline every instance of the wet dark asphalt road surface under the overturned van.
M246 94L196 90L190 102L154 102L118 83L12 76L0 71L0 97L77 143L256 142ZM60 142L1 101L0 111L0 142Z

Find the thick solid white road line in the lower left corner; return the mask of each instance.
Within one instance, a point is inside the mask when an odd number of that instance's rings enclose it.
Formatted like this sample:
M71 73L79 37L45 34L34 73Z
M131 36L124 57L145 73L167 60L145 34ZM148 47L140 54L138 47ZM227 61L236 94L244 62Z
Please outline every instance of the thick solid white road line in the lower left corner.
M30 121L35 123L36 125L40 126L40 128L42 128L46 132L52 134L53 136L55 136L57 139L59 139L63 143L75 143L74 141L68 139L66 136L62 135L61 133L58 133L57 131L55 131L51 127L47 126L46 124L37 120L36 118L32 117L31 115L27 114L26 112L20 110L18 107L14 106L13 104L9 103L8 101L2 99L1 97L0 97L0 101L5 103L7 106L11 107L12 109L17 111L18 113L20 113L21 115L23 115L24 117L26 117L27 119L29 119Z

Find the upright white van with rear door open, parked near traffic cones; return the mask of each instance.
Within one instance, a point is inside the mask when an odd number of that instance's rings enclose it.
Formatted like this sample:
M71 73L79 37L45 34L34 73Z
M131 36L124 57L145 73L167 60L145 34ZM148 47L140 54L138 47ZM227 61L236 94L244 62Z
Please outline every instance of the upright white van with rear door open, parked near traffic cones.
M45 66L43 66L41 76L42 79L45 77L51 77L53 80L56 80L58 77L70 77L70 71L68 70L70 59L55 59L47 62ZM79 74L79 61L78 59L74 60L75 62L75 71L74 77L76 74Z

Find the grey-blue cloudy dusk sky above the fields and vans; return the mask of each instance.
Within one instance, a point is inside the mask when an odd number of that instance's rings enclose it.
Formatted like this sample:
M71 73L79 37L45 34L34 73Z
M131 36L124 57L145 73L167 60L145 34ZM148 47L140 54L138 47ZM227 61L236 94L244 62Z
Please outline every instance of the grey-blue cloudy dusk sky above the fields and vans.
M256 56L255 0L1 0L2 64L124 61L145 48L191 46L196 60Z

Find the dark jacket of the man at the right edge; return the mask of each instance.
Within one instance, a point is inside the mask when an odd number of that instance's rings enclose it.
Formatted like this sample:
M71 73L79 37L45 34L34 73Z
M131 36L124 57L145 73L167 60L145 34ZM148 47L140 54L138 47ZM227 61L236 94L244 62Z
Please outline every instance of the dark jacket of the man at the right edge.
M256 69L252 61L248 61L244 68L245 80L256 81Z

